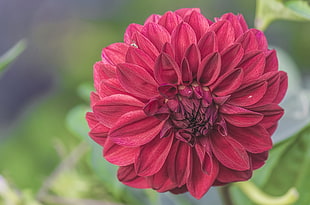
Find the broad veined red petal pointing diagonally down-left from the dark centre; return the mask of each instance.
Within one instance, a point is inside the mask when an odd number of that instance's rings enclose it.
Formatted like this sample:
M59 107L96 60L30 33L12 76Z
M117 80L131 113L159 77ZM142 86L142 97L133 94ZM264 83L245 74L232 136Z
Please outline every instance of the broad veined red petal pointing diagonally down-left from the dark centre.
M157 136L142 146L135 160L137 174L139 176L150 176L158 172L166 161L172 142L172 135L164 138Z

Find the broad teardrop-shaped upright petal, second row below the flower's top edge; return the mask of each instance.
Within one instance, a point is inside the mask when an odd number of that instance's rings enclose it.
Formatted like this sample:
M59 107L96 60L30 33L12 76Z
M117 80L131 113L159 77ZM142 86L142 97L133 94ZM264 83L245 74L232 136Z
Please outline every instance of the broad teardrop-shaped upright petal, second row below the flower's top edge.
M178 64L181 63L186 49L197 43L195 31L190 25L180 23L171 34L171 44L175 50L175 59Z

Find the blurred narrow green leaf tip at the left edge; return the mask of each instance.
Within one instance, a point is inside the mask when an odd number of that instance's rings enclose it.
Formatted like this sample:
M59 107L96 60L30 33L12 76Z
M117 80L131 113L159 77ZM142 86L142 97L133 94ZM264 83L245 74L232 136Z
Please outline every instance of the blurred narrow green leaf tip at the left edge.
M0 72L3 71L26 48L26 40L18 41L10 50L0 57Z

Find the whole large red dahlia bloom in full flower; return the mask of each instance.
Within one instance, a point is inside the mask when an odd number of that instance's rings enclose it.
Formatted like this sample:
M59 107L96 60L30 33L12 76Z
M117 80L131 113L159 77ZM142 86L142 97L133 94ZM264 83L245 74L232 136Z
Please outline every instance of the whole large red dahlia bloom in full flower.
M247 180L272 147L287 75L242 15L199 9L151 15L94 65L91 138L118 179L201 198Z

